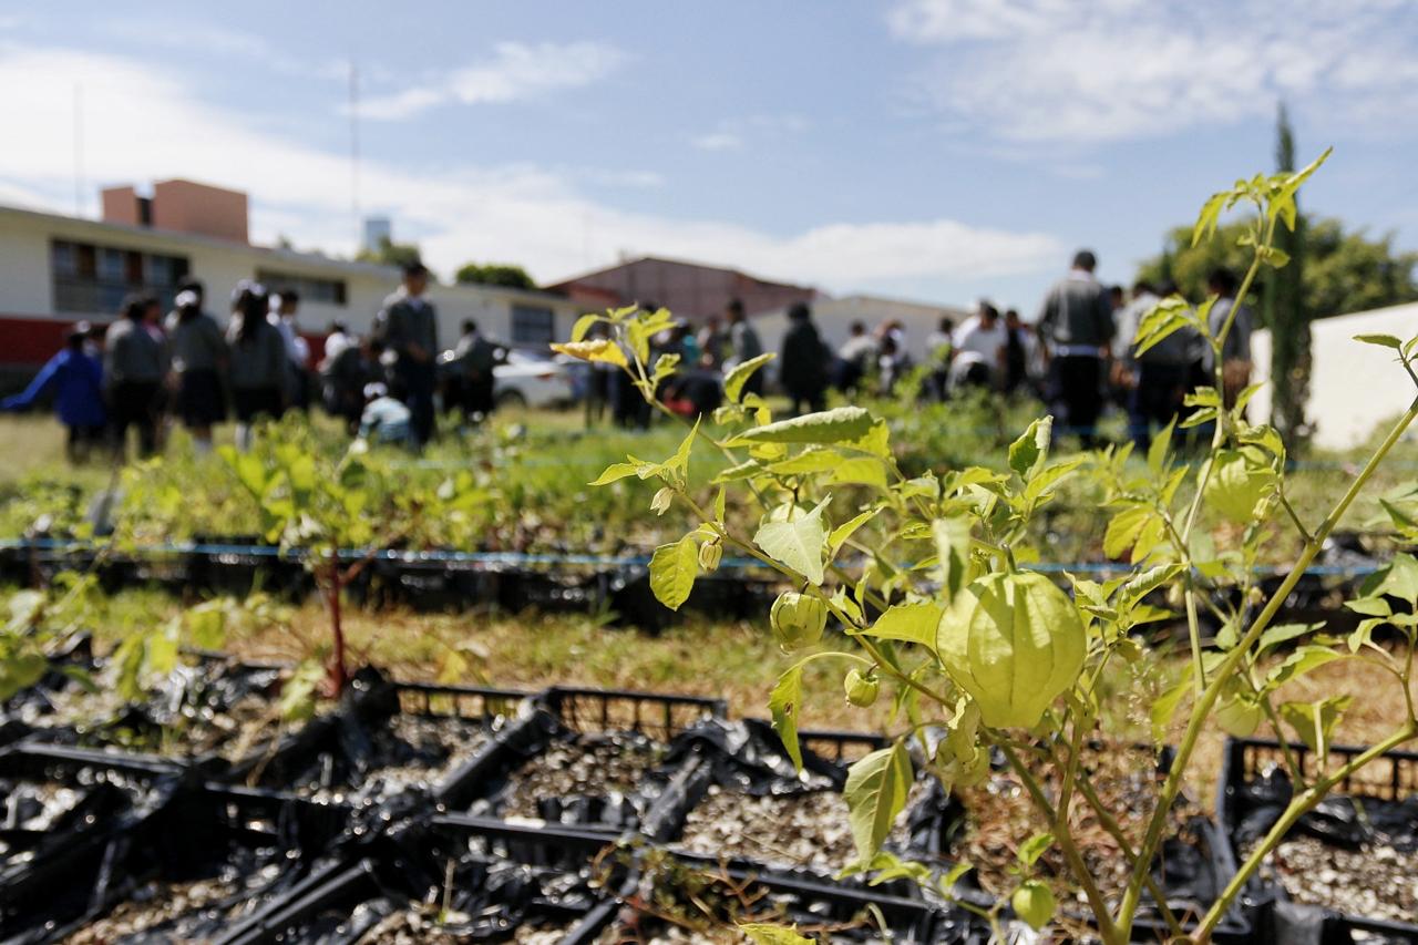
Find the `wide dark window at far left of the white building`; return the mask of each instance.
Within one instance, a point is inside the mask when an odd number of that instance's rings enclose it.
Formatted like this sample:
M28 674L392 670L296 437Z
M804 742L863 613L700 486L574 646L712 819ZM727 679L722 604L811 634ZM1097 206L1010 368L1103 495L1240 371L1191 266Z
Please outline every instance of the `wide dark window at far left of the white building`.
M50 272L54 311L116 315L135 292L156 295L164 308L170 306L189 262L184 255L54 240Z

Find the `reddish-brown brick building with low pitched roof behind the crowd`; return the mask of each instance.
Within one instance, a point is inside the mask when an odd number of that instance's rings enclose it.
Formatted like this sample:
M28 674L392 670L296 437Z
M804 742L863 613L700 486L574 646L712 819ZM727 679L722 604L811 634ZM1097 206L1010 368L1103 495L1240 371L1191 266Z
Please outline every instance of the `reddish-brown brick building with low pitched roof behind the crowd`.
M818 297L817 289L807 285L770 282L737 270L648 255L546 288L564 292L586 308L654 304L691 321L722 314L735 298L754 315Z

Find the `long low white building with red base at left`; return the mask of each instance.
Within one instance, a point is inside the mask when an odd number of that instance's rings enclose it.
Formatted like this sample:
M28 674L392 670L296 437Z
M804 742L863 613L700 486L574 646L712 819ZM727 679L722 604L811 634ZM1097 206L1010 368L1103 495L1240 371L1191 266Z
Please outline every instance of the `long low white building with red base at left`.
M142 216L150 219L147 207ZM221 321L241 280L295 288L301 328L319 341L335 319L369 331L401 274L240 238L0 206L0 372L33 373L58 350L71 324L112 321L129 292L170 302L186 277L201 280L207 308ZM580 315L577 304L549 292L432 285L428 294L438 308L440 342L450 348L468 318L492 338L535 346L566 338Z

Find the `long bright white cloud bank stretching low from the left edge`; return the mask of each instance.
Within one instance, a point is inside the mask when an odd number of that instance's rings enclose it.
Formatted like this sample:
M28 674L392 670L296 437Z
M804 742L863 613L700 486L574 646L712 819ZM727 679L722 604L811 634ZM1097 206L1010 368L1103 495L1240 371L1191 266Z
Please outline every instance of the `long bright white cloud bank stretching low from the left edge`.
M86 177L143 183L169 176L245 190L252 236L272 243L353 250L350 167L339 153L257 131L193 98L177 74L130 60L62 48L0 47L0 128L24 129L24 148L0 149L0 183L68 211L75 82L85 88ZM155 135L153 128L182 129ZM1062 247L1042 233L977 228L953 220L824 223L773 234L720 220L632 213L576 189L577 173L533 166L427 167L367 162L367 211L393 216L435 270L469 258L513 260L545 282L613 262L615 251L737 265L839 291L898 277L974 280L1052 270ZM587 245L591 253L587 254Z

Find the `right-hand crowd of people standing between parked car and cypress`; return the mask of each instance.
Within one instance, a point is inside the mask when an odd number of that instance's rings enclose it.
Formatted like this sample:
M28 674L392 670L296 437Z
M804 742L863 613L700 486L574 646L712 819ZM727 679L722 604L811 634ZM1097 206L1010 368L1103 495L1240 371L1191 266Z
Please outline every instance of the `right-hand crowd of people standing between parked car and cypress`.
M937 400L970 389L1025 393L1044 400L1058 429L1076 434L1085 446L1098 443L1099 417L1109 403L1116 403L1127 413L1132 438L1146 447L1156 427L1181 413L1188 390L1212 383L1215 359L1191 328L1137 353L1141 318L1176 287L1140 280L1129 295L1122 287L1102 284L1096 268L1095 254L1081 250L1068 275L1049 288L1034 322L1012 308L1001 314L994 304L981 301L959 325L942 318L925 350L915 353L905 325L895 319L875 331L854 322L847 341L834 350L824 342L810 306L794 304L774 363L777 385L793 413L821 410L830 389L847 397L896 396L913 375L920 380L912 389L919 392L915 396ZM1249 382L1252 314L1236 306L1236 280L1229 271L1214 271L1210 289L1217 297L1208 312L1211 333L1218 335L1228 319L1232 322L1221 355L1224 393L1231 403ZM678 413L708 413L719 404L723 377L763 352L743 304L732 301L723 316L706 319L698 332L681 325L655 341L652 360L674 353L681 363L657 396ZM591 386L593 406L598 400L610 403L614 419L624 426L648 423L648 407L632 382L608 365L598 368L604 370L597 370ZM750 377L744 392L761 393L769 373Z

